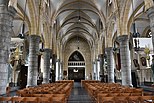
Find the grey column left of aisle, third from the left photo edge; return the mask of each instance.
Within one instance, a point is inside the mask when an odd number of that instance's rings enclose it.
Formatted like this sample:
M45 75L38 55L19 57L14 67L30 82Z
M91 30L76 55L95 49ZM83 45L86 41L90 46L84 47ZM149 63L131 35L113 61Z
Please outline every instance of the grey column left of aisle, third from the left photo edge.
M50 54L51 49L44 49L43 57L44 57L44 69L43 69L43 84L49 83L49 75L50 75Z

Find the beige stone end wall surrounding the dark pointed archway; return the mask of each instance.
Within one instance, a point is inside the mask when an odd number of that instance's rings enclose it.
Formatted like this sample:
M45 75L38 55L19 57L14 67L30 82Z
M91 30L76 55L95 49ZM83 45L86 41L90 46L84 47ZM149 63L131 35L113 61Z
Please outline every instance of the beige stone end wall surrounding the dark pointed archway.
M89 76L92 73L91 51L88 43L82 38L79 38L79 42L77 42L77 38L72 38L67 42L63 53L64 70L68 70L68 59L75 51L79 51L84 57L86 65L85 77Z

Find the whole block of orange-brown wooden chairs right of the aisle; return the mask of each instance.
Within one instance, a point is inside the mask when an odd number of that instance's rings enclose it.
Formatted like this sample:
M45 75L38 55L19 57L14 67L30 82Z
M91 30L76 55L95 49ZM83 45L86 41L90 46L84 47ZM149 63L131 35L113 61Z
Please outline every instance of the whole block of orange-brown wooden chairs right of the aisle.
M110 103L111 101L111 103L120 103L120 101L123 101L121 103L142 103L144 101L143 103L145 103L153 102L154 98L152 93L145 93L143 89L122 86L117 83L84 81L83 86L97 103ZM133 99L138 102L130 102Z

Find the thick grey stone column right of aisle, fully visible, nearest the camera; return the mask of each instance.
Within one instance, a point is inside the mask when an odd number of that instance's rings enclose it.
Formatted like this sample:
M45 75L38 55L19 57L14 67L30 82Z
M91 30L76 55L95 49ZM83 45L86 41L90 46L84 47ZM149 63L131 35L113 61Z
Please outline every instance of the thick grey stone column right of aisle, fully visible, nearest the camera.
M120 43L122 85L132 86L131 60L130 60L128 35L119 36L118 41Z

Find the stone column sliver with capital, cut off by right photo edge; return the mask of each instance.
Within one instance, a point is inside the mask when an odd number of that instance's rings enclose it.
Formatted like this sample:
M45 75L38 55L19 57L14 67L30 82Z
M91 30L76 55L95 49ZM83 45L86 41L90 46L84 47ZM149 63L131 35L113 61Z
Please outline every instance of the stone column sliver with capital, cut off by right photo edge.
M154 51L154 6L147 10L147 15L150 19L150 28L152 34L152 44L153 44L153 51Z

